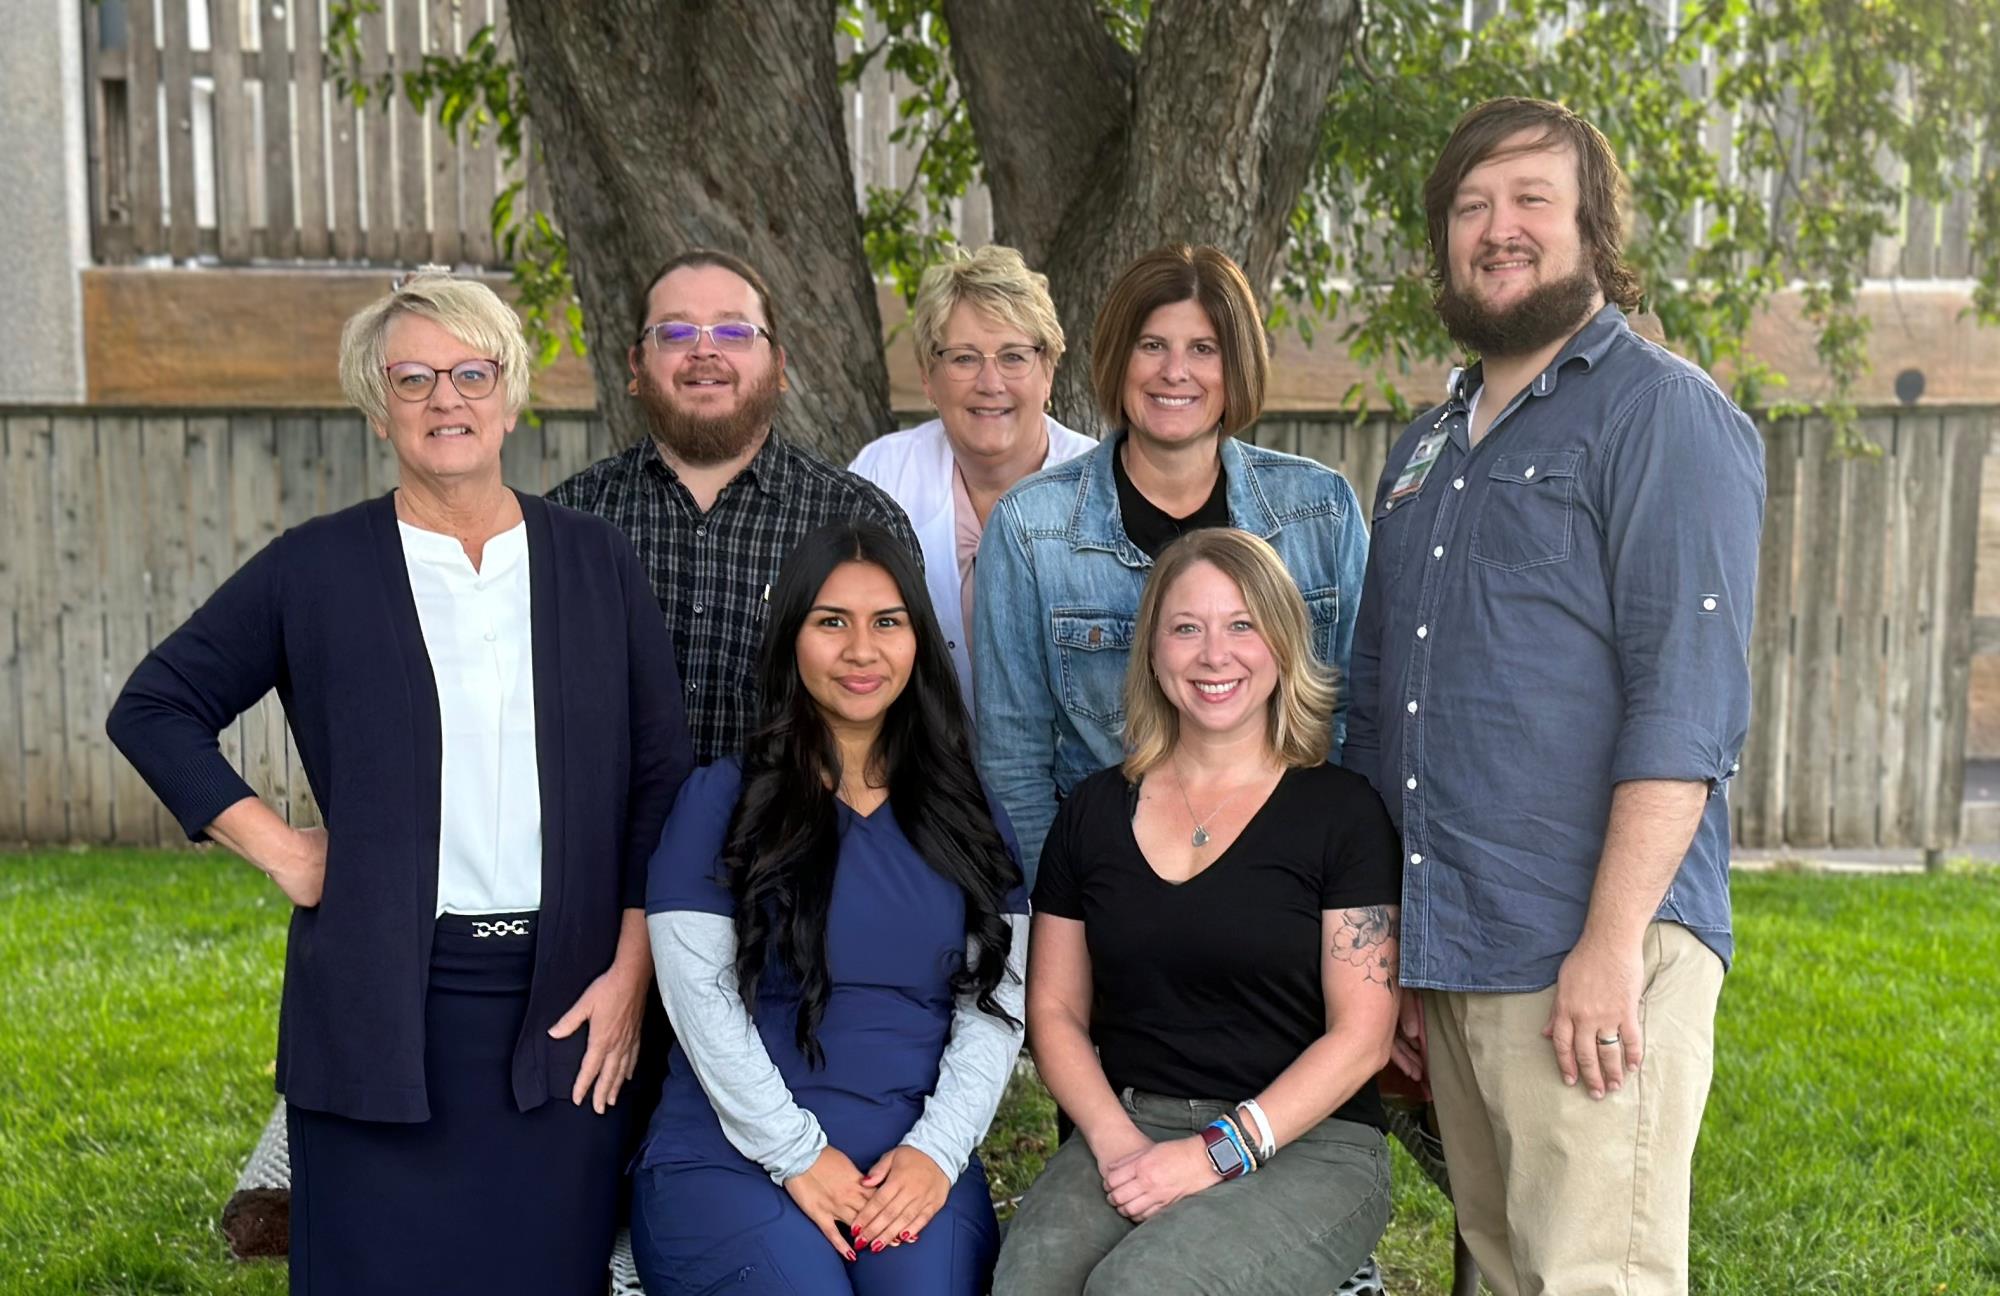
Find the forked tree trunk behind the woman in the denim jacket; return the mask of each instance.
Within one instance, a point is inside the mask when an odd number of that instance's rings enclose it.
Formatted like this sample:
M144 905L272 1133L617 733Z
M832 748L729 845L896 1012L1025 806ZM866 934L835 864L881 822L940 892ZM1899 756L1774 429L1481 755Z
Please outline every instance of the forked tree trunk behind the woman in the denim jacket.
M994 238L1048 274L1070 342L1056 414L1102 430L1090 328L1134 256L1214 244L1270 308L1356 6L1160 0L1136 60L1090 0L1022 8L944 0L952 68L992 182Z

